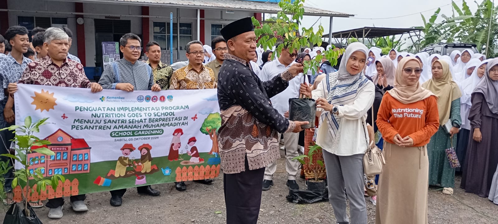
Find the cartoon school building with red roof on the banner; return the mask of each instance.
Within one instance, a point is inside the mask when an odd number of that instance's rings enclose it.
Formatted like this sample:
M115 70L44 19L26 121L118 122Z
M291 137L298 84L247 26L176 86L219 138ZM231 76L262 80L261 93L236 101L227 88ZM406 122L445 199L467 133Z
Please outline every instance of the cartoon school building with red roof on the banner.
M29 153L28 161L31 158L40 159L29 164L29 172L34 172L35 169L43 167L41 170L43 176L51 176L54 174L75 174L90 172L90 149L84 139L75 139L66 132L58 129L52 135L44 140L50 141L52 144L46 147L55 155L50 157L38 152ZM37 149L41 147L32 147Z

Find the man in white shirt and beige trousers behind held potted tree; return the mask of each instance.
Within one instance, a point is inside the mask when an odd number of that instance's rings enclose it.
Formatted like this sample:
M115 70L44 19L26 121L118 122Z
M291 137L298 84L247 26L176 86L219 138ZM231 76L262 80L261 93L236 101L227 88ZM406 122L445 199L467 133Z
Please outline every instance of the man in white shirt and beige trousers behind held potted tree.
M277 44L276 47L278 47ZM264 65L261 73L259 74L262 81L268 81L283 73L285 70L289 69L294 60L297 57L297 51L289 53L288 46L284 46L280 52L280 57L278 59L268 62ZM288 118L289 111L289 99L299 97L299 87L303 82L303 74L297 75L295 78L289 80L289 86L278 93L277 95L270 98L273 103L273 107L280 113L280 115ZM296 182L296 176L298 175L297 170L299 169L299 161L293 160L292 158L298 156L298 142L299 133L283 133L278 134L278 139L283 135L283 141L285 145L285 169L287 171L287 186L289 190L298 190L299 185ZM263 177L263 191L269 190L273 186L273 174L277 169L276 161L268 164L264 170Z

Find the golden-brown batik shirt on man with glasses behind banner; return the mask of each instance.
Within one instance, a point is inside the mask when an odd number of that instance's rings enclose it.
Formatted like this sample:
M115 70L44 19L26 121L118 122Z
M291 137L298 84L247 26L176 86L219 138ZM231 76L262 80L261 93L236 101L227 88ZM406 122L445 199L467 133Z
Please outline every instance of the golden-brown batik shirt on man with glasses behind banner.
M208 67L197 72L190 64L176 70L171 77L169 89L212 89L216 88L215 73Z

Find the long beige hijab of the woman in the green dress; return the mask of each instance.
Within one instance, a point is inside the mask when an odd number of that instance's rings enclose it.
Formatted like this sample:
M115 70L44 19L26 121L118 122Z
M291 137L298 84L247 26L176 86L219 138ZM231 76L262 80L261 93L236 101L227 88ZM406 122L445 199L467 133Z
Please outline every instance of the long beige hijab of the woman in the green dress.
M439 123L445 124L450 119L451 102L462 96L458 84L453 81L450 72L450 66L444 60L436 60L443 67L443 76L441 78L432 78L422 84L422 87L430 90L438 97L437 107L439 110ZM434 63L432 65L434 66Z

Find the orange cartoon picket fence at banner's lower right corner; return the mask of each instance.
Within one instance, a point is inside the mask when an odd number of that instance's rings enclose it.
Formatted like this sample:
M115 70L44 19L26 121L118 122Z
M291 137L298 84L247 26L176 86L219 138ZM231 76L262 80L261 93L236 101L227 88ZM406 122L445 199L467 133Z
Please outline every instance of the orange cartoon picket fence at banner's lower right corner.
M215 178L220 174L220 164L218 165L206 165L204 166L192 166L187 167L177 167L176 168L176 181L189 181L189 180L203 180Z

